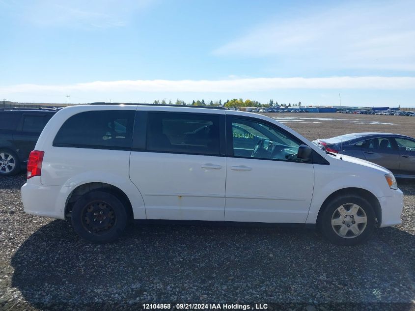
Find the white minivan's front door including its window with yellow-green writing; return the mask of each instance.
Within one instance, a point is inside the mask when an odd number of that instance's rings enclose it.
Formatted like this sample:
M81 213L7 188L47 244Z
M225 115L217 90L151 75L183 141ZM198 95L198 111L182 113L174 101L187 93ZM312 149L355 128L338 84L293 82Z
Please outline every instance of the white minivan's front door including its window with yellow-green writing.
M305 223L314 169L296 159L301 142L252 118L227 115L226 127L225 221Z

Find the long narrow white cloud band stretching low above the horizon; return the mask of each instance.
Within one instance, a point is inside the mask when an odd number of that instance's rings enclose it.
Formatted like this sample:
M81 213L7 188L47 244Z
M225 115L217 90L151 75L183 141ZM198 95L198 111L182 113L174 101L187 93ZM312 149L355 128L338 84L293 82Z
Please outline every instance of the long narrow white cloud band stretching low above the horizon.
M415 89L415 77L245 78L227 80L121 80L71 85L0 86L0 94L63 94L74 92L261 92L277 89Z

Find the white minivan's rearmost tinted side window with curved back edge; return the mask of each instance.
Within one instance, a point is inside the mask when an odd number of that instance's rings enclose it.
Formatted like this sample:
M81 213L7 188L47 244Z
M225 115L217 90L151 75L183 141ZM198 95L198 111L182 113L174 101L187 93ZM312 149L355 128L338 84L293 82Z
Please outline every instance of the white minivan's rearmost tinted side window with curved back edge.
M71 116L55 136L56 147L131 148L134 111L88 111Z

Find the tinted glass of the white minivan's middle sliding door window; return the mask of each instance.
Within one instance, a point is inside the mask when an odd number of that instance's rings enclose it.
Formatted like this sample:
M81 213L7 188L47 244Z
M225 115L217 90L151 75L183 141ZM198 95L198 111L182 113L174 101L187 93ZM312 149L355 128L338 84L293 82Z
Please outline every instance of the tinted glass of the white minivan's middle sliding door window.
M149 113L149 151L219 155L219 115Z

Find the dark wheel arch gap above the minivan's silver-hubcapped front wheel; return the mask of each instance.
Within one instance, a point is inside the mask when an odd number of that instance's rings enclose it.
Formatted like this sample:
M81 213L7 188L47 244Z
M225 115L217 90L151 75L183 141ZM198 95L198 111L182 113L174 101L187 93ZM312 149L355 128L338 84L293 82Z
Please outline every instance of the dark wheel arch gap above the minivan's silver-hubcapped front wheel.
M340 196L351 196L351 195L360 196L366 199L370 203L370 205L373 208L373 211L375 212L378 226L380 226L380 224L382 224L382 209L381 209L381 205L379 203L378 198L376 198L376 196L368 190L365 190L362 188L353 188L353 187L339 189L333 192L330 196L328 196L324 200L317 215L317 221L316 221L317 226L320 226L321 216L330 201Z

